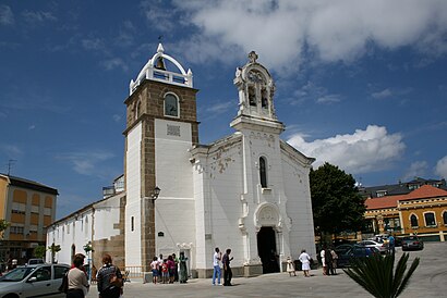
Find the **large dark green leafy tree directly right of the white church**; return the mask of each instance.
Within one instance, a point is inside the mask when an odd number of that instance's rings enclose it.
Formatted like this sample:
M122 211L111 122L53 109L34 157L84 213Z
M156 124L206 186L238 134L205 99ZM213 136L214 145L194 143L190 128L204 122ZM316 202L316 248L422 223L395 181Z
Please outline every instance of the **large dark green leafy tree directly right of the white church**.
M338 235L362 228L365 204L351 174L326 162L317 170L311 170L310 183L317 233Z

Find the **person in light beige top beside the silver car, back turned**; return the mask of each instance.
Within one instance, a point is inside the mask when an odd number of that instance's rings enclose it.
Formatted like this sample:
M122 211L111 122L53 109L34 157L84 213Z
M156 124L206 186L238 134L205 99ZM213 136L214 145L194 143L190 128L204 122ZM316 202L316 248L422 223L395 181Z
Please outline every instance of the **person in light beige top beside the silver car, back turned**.
M73 268L68 273L68 291L67 298L84 298L88 291L87 275L82 270L84 258L75 257Z

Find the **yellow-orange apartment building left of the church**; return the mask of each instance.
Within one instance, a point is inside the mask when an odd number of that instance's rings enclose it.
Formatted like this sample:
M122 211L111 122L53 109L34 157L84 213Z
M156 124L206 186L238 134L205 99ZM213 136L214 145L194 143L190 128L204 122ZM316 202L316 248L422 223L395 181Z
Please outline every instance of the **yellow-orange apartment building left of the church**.
M46 245L46 227L55 221L57 196L55 188L0 174L0 219L10 223L0 241L0 261L13 258L25 263L35 247Z

